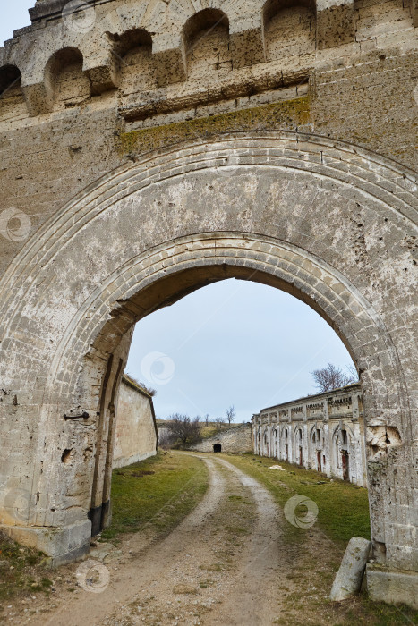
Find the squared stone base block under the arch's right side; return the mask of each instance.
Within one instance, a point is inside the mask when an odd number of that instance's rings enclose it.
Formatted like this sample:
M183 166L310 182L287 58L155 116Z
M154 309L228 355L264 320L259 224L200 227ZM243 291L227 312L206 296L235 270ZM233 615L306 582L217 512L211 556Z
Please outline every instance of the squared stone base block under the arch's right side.
M371 600L418 609L418 572L388 570L381 565L368 563L366 578Z

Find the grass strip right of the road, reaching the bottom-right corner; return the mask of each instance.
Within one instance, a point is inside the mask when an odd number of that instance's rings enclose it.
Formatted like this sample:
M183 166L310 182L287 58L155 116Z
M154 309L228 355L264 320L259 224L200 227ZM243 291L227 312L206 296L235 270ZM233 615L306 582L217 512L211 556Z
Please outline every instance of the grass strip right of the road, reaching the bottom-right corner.
M269 469L277 463L274 459L256 457L253 454L218 454L228 462L242 469L266 486L277 503L283 507L295 494L306 495L318 505L319 516L316 525L324 531L337 548L336 555L321 563L303 549L309 538L305 529L295 529L285 525L288 554L294 552L294 567L287 573L289 584L297 583L294 590L283 596L282 614L274 623L283 626L394 626L397 624L418 624L418 612L399 605L386 605L373 602L365 594L354 596L345 602L334 603L328 599L329 590L336 571L341 563L346 543L351 537L370 538L370 518L367 489L351 483L320 475L316 471L300 469L285 461L278 461L286 471ZM235 497L234 497L235 500ZM302 558L301 558L302 555ZM300 559L298 561L298 559Z

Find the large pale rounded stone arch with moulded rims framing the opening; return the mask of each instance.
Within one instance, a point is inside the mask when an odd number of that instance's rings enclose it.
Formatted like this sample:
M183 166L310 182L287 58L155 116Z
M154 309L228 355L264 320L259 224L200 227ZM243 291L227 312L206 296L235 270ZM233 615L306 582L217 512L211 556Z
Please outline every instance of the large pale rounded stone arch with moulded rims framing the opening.
M9 421L31 415L21 434L26 453L14 461L23 469L26 506L17 519L16 506L4 506L1 522L11 533L19 527L15 536L27 541L34 533L44 537L42 527L60 529L53 544L50 534L45 543L37 539L57 561L86 549L90 477L98 439L108 441L107 406L132 326L200 286L234 276L308 303L351 351L367 419L397 427L400 436L384 468L372 465L373 541L385 546L381 561L412 568L414 548L406 539L394 543L397 510L382 494L393 469L397 484L411 488L399 470L407 476L413 468L408 385L415 356L397 334L396 312L397 294L406 303L411 297L405 284L414 283L414 266L393 241L416 228L416 183L414 173L362 148L259 132L144 155L73 198L22 247L0 282L0 375L7 391L0 412ZM363 224L386 240L387 263L372 241L359 250ZM405 320L411 333L413 321ZM80 410L89 414L86 424L64 419ZM77 453L64 465L63 450L70 448ZM102 474L106 467L104 459ZM23 476L30 477L26 483ZM402 514L413 522L409 509ZM71 550L68 534L76 537ZM58 545L66 552L54 553Z

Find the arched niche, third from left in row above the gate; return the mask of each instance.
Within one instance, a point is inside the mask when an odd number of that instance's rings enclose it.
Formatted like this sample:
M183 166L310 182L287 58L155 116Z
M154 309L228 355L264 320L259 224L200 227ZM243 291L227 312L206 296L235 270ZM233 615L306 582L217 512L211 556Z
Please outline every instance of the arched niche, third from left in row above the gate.
M113 40L121 92L129 95L157 88L149 32L144 29L126 30L122 35L113 36Z

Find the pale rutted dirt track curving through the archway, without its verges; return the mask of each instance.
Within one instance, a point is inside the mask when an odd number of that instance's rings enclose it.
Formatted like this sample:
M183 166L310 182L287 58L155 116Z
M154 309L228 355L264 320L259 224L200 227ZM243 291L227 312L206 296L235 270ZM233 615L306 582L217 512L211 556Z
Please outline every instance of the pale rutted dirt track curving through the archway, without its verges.
M99 565L98 587L109 577L105 590L68 594L47 613L32 614L30 623L267 626L278 621L282 513L253 478L217 457L204 462L208 492L166 539L144 546L144 537L131 537L123 554Z

